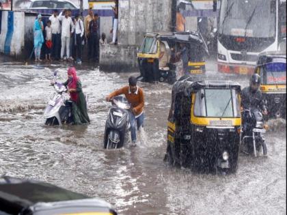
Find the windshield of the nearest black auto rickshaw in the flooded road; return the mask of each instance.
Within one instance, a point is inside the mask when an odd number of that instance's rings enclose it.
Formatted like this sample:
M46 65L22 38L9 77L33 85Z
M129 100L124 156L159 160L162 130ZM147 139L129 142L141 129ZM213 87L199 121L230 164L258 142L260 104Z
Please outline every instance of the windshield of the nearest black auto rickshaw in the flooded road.
M240 117L240 100L235 89L201 89L195 94L197 117Z

